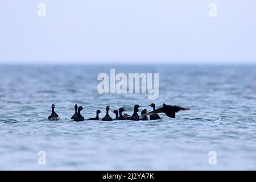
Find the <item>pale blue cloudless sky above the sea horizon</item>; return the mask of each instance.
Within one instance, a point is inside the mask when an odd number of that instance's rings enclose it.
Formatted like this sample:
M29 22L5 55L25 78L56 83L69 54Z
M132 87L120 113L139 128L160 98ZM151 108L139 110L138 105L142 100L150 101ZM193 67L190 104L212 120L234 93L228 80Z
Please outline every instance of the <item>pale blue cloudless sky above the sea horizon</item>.
M8 0L0 24L0 63L256 63L255 0Z

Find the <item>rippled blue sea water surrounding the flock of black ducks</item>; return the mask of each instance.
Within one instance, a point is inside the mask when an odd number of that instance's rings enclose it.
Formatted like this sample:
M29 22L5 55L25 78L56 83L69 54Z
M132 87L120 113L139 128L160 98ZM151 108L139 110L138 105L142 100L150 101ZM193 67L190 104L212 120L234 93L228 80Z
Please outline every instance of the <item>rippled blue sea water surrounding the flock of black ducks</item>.
M159 73L159 98L98 94L97 75ZM190 107L158 121L72 122L97 109ZM48 121L55 104L60 121ZM113 113L110 113L114 117ZM256 169L255 65L0 65L0 169ZM46 165L39 165L39 151ZM217 164L208 155L216 152Z

